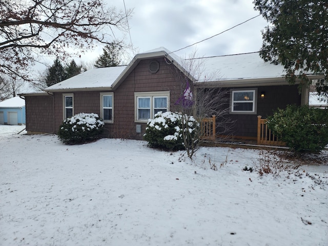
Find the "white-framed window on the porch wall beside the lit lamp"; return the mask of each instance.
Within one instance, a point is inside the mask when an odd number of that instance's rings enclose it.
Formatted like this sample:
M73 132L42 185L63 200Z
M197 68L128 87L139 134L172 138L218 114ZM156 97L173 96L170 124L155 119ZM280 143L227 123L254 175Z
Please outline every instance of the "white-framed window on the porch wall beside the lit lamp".
M230 91L231 114L256 114L257 89L239 89Z

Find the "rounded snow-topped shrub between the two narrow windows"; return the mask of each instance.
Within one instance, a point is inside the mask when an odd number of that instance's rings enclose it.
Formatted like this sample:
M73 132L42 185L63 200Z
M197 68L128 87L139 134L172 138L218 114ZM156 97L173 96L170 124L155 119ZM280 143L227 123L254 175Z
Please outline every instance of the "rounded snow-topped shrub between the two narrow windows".
M81 144L98 138L103 131L104 121L97 114L79 113L63 121L57 132L65 144Z

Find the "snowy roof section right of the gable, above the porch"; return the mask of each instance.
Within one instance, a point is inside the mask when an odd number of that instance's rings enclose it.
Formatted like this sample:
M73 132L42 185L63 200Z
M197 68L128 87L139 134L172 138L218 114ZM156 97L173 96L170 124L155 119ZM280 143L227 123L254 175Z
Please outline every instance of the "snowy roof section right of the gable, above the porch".
M287 85L286 71L282 65L264 62L258 52L204 57L200 59L204 72L200 75L196 86L219 85L229 86L259 86ZM309 74L312 79L323 75Z

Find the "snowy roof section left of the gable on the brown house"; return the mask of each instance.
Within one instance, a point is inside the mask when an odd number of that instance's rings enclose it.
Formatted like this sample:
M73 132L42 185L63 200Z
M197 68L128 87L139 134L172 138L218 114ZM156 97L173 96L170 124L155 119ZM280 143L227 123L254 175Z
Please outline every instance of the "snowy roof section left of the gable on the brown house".
M111 89L116 78L126 67L94 68L50 86L45 91L63 89Z

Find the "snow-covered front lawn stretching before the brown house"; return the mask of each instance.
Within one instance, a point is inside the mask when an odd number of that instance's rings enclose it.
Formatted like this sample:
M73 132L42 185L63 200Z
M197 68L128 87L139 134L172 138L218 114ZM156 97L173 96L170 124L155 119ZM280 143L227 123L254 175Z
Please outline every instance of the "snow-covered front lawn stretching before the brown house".
M328 151L260 176L243 168L289 162L220 147L192 162L145 141L66 146L22 129L0 125L0 245L328 245Z

